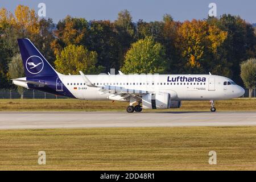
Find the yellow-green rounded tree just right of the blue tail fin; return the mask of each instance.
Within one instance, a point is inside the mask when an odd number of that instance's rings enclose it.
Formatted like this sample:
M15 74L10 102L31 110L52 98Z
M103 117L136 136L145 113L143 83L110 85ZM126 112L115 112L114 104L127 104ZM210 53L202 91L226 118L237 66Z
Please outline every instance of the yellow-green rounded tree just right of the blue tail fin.
M96 67L97 53L88 51L84 46L69 45L56 56L55 67L60 73L76 75L79 71L85 74L100 73L102 67Z

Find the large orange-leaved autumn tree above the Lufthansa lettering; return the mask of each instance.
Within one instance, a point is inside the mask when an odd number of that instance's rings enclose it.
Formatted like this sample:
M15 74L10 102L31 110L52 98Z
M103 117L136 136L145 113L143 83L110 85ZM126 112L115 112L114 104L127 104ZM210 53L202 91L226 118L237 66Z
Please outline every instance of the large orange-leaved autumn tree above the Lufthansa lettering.
M177 34L176 47L181 51L180 60L187 72L208 72L216 67L210 59L225 41L227 32L210 26L206 20L193 19L177 28Z

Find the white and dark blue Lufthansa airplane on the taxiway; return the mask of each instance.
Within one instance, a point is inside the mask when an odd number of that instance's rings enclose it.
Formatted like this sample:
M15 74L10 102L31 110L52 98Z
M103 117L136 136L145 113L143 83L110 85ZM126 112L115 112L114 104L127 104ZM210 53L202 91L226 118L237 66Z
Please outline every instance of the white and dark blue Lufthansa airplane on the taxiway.
M128 113L142 109L179 108L181 101L214 101L240 97L245 90L217 75L100 74L63 75L57 72L29 39L18 39L26 77L13 84L27 89L77 98L128 102ZM32 66L32 67L31 67Z

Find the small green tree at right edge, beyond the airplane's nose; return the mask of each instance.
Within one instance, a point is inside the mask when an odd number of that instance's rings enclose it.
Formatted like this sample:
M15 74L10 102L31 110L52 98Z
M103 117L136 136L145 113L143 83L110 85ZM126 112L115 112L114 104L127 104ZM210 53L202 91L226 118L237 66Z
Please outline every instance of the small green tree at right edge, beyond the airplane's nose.
M248 59L240 64L241 78L246 88L249 89L249 97L256 87L256 59Z

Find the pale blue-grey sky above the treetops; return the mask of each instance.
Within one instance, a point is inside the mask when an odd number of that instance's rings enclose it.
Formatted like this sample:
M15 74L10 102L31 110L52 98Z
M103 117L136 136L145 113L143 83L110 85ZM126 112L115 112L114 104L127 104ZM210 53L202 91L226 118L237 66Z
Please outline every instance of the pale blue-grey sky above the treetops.
M127 9L133 21L143 19L147 22L161 20L164 14L171 14L175 20L191 20L207 18L208 5L217 4L217 16L221 14L240 15L249 23L256 23L256 0L0 0L0 7L14 11L19 4L29 6L38 11L38 4L46 3L46 15L57 23L66 15L86 18L87 20L115 20L119 11Z

